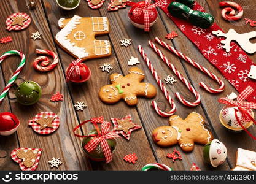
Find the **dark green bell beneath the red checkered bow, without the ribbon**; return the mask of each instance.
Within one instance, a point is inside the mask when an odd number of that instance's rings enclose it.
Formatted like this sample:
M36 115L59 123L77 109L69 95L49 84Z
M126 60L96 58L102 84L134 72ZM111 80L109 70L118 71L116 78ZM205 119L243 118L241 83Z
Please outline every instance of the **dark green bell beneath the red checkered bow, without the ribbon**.
M96 129L94 129L94 130L90 131L88 135L91 135L91 134L98 134L98 132L96 131ZM82 141L83 151L85 151L85 154L93 161L105 161L106 159L105 159L103 150L101 148L101 144L98 144L97 147L95 148L95 150L91 151L90 153L85 149L85 145L91 139L93 139L93 137L83 138L83 141ZM115 141L115 139L107 139L107 144L111 148L111 153L113 153L115 151L115 146L117 145L117 142Z

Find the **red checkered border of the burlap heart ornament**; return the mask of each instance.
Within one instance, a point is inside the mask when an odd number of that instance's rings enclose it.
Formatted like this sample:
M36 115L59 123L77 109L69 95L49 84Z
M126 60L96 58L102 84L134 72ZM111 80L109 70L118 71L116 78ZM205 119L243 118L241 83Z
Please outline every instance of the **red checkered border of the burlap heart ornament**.
M35 151L37 151L36 161L34 162L34 165L32 167L26 167L23 164L23 160L18 158L18 156L17 156L17 151L18 150L35 150ZM10 153L10 157L16 163L19 163L20 169L22 171L35 171L37 169L37 167L38 167L41 154L42 154L42 149L41 148L16 148L16 149L12 150L12 153Z

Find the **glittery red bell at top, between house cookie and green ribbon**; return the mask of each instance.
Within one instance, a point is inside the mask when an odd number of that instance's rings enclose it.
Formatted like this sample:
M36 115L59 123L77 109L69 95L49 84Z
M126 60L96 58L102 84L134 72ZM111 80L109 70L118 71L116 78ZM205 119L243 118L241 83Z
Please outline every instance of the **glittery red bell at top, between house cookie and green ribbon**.
M142 7L141 7L141 6ZM138 2L138 4L135 4L131 7L128 17L133 23L137 23L139 25L144 25L144 13L143 13L143 7L145 6L145 1ZM156 8L147 10L149 13L149 23L153 23L158 18L158 12Z

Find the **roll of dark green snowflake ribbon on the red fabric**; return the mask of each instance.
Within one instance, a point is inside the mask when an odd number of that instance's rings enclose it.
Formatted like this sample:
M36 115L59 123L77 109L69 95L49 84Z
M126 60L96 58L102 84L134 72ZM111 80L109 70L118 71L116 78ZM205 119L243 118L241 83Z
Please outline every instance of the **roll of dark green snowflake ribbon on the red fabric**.
M192 10L179 2L171 2L168 11L174 17L188 20L192 25L203 29L209 28L214 23L214 17L209 13Z

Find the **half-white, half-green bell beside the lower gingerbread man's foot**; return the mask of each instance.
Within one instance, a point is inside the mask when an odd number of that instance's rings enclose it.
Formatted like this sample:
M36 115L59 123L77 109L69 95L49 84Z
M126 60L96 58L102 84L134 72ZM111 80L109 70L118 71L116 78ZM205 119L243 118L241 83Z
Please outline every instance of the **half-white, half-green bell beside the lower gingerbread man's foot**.
M203 158L212 167L217 167L227 158L227 148L218 139L214 139L204 146Z

